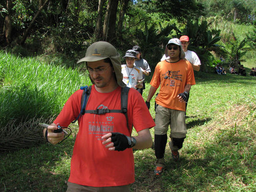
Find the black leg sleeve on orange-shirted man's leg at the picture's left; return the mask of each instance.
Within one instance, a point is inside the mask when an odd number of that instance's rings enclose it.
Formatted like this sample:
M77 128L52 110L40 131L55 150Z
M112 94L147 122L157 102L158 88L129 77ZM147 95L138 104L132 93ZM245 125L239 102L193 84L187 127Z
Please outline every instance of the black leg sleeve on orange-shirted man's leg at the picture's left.
M156 135L155 134L155 155L157 159L161 159L164 156L165 146L167 143L167 134Z

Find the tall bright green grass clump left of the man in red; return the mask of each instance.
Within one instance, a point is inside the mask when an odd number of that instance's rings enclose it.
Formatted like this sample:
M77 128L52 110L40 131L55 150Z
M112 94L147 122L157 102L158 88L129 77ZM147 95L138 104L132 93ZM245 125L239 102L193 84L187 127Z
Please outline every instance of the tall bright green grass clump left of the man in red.
M50 122L69 96L90 82L88 79L78 70L0 52L0 145L24 140L28 131L39 138L38 120ZM31 125L25 126L27 122Z

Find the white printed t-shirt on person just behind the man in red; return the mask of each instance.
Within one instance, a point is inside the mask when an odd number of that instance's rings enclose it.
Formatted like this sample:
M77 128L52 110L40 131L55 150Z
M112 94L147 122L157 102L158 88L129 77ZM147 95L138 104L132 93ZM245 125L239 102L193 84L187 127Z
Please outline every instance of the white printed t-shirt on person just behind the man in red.
M142 71L140 67L134 66L133 68L128 68L127 65L122 65L122 74L123 74L123 82L129 88L135 88L138 80L142 79Z

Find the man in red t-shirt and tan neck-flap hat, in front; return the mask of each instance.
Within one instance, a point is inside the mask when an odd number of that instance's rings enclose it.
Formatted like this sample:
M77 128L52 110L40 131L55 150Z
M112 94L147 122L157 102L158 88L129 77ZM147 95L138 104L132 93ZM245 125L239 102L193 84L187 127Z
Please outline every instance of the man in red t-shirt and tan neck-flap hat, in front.
M78 62L82 61L86 61L94 82L86 110L119 110L121 87L125 84L116 49L108 42L95 42ZM50 143L56 144L64 137L63 132L53 132L57 125L68 126L79 115L82 92L73 93L58 117L44 130ZM122 113L85 113L78 118L67 191L99 191L102 187L104 191L130 191L130 184L135 181L132 148L151 147L149 129L155 126L143 98L134 89L129 90L127 116L128 125ZM138 136L131 137L133 126Z

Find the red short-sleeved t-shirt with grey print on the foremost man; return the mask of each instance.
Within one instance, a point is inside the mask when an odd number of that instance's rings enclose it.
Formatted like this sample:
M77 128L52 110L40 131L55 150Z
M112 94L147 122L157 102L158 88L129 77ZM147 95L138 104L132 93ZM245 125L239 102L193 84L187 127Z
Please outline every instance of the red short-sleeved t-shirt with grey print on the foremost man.
M71 95L55 119L55 124L68 126L76 119L80 112L81 95L82 90ZM121 109L120 95L120 87L110 93L99 93L92 86L86 110ZM129 130L126 126L126 118L121 113L84 114L78 119L79 131L71 159L69 182L104 187L127 185L135 181L132 148L122 152L109 151L101 140L103 135L110 132L130 136L133 126L137 132L155 126L143 98L134 89L129 91L127 115Z

